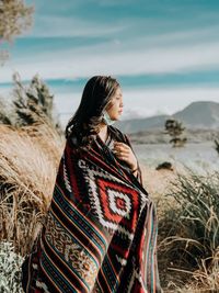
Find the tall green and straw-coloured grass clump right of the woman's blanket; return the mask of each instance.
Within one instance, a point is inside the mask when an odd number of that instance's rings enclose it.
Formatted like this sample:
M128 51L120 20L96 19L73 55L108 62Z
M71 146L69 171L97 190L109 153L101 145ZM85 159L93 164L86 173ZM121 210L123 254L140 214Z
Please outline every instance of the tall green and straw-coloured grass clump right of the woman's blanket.
M166 292L218 292L218 172L200 177L189 171L172 183L165 199L174 203L159 223L159 261Z

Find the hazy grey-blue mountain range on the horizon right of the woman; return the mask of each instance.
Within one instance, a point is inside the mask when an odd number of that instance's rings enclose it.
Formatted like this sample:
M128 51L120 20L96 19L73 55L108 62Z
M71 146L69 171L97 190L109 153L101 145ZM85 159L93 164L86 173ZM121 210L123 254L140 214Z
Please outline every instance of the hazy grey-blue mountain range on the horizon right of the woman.
M147 119L119 121L115 123L115 126L125 133L160 129L164 128L164 123L170 117L181 121L189 129L217 129L219 128L219 103L193 102L171 116L157 115Z

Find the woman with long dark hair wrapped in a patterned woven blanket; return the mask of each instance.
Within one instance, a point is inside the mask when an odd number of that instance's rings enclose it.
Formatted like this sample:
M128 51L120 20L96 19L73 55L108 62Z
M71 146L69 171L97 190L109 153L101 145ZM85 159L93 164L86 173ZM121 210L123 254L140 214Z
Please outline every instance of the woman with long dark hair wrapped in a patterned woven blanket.
M157 221L116 79L92 77L66 127L51 204L23 263L25 292L159 293Z

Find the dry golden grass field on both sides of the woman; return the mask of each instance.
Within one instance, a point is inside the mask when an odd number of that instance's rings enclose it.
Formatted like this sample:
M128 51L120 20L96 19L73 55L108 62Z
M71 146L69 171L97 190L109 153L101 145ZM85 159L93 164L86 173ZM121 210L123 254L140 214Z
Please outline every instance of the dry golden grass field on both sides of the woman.
M0 136L0 291L22 292L20 264L49 206L65 139L47 124L1 125ZM219 292L219 173L141 168L157 203L164 292Z

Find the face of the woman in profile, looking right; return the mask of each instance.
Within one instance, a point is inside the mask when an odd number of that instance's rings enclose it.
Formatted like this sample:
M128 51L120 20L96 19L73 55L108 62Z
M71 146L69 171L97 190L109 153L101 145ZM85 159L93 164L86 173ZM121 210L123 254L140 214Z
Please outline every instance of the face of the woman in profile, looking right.
M110 105L106 108L110 117L112 120L118 120L123 113L123 93L120 87L118 87L112 97Z

